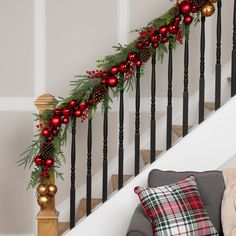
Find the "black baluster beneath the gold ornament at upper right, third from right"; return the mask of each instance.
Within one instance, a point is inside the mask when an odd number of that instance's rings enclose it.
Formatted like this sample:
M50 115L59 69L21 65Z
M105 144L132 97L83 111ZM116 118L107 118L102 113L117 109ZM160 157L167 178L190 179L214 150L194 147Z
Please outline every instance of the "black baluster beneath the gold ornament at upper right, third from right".
M200 57L200 81L199 81L199 123L204 120L205 102L205 17L201 18L201 57Z

